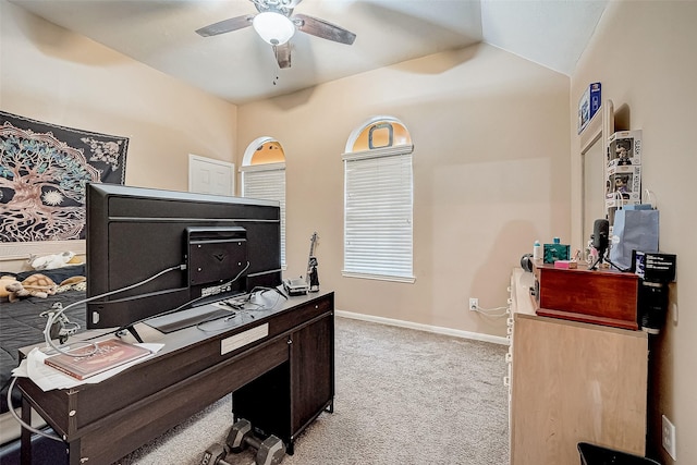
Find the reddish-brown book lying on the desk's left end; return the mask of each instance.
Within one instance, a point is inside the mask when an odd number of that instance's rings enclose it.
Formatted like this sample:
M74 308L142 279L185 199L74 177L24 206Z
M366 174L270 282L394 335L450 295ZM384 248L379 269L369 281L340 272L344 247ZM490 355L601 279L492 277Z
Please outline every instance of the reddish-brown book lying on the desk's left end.
M86 345L69 351L71 355L52 355L44 363L73 378L83 380L151 354L145 347L129 344L117 338L97 342L96 352L85 356L93 351L95 351L94 346Z

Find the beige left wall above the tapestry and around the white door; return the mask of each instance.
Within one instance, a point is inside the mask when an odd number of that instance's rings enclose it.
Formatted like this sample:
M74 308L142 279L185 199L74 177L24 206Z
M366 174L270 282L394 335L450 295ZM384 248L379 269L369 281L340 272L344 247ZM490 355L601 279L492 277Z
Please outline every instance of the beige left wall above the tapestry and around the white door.
M126 184L186 191L188 154L232 161L237 108L0 0L0 109L130 137Z

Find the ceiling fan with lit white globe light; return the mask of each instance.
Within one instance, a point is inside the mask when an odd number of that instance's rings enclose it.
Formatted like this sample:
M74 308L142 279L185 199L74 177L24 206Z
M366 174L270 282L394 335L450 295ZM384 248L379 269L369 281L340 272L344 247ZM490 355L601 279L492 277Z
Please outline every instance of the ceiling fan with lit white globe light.
M293 15L293 10L303 0L249 0L258 13L231 17L197 29L203 37L231 33L254 26L257 34L273 47L279 68L291 68L291 45L289 40L301 30L322 39L352 45L356 35L343 27L306 14Z

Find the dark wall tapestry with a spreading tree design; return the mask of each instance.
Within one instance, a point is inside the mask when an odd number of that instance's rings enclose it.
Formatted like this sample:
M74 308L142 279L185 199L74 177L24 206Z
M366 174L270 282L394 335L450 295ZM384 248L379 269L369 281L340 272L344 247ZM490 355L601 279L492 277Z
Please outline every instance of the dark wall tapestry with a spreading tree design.
M127 137L0 111L0 242L85 237L85 186L123 184Z

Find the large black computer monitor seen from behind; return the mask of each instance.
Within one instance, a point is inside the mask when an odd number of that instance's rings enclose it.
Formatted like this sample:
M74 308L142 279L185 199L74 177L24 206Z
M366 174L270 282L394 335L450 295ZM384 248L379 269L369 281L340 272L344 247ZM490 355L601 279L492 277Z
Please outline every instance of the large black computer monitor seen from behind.
M115 184L86 191L89 329L196 306L205 314L212 299L281 284L277 201Z

